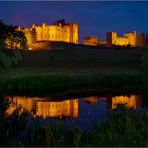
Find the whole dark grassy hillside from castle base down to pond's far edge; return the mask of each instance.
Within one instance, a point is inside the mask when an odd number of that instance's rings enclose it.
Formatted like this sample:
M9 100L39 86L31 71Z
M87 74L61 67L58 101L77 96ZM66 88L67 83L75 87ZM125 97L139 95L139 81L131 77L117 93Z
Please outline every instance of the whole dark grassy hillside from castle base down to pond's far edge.
M140 87L142 50L73 49L28 51L0 73L2 93L55 94Z

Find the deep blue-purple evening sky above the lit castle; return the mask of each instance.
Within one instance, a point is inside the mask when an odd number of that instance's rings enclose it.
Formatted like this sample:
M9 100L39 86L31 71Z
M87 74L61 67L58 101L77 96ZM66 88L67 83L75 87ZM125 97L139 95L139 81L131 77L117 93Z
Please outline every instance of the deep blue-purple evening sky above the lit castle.
M107 31L148 32L148 1L0 1L0 19L7 24L30 27L33 23L52 24L58 19L79 25L82 37L97 35L105 39Z

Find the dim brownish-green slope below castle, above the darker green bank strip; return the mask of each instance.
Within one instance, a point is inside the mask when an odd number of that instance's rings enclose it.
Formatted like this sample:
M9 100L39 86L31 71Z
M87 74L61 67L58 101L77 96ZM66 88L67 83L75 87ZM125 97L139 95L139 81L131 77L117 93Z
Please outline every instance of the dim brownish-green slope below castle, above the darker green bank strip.
M142 50L73 49L27 51L3 76L47 74L128 74L139 72Z

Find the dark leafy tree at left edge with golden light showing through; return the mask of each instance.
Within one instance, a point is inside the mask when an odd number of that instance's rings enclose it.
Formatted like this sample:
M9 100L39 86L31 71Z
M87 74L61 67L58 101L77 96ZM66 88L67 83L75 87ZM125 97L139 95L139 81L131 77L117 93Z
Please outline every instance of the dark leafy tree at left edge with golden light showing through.
M26 48L27 40L19 27L7 25L0 20L0 69L18 63Z

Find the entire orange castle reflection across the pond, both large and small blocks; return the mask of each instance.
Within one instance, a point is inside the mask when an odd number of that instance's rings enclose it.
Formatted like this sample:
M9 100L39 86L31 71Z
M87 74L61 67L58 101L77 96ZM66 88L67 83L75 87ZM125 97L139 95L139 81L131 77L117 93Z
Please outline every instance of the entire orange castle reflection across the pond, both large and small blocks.
M106 108L116 109L119 104L124 104L126 108L136 109L142 106L142 102L138 95L130 96L106 96L106 97L85 97L82 99L68 99L64 101L50 101L49 98L29 98L29 97L6 97L10 101L10 106L6 110L6 116L10 116L16 109L19 113L29 112L34 117L78 117L79 101L88 104L98 104L99 101L106 102Z

